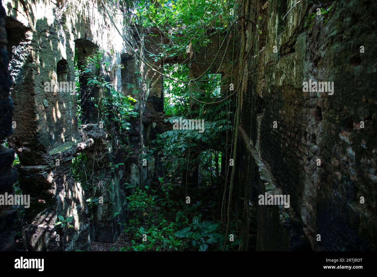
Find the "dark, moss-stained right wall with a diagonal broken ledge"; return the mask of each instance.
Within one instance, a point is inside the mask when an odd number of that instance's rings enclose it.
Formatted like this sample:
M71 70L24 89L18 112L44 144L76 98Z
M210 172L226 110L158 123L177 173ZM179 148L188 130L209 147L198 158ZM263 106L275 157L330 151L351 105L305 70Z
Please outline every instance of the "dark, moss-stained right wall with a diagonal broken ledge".
M307 249L310 241L314 250L375 250L376 6L295 3L254 0L247 7L247 49L253 52L240 144L250 150L239 162L245 211L256 211L256 249ZM313 15L317 8L322 13ZM333 94L303 92L310 79L334 82ZM271 178L262 178L267 173ZM266 191L289 194L291 207L258 205Z

